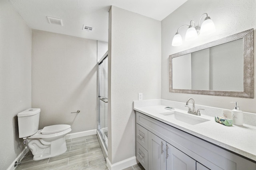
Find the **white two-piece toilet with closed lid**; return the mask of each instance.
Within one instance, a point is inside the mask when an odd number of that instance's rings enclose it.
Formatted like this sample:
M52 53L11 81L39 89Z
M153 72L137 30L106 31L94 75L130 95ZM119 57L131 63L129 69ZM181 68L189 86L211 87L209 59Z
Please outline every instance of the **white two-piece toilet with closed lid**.
M19 137L28 139L33 160L41 160L66 152L65 136L70 125L51 125L38 130L41 109L27 109L18 113Z

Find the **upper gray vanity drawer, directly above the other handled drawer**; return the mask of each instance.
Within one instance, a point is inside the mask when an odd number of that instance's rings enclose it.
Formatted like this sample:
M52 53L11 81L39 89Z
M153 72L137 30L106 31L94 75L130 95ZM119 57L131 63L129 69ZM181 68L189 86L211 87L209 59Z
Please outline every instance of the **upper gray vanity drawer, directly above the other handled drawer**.
M136 124L136 141L148 150L148 130Z

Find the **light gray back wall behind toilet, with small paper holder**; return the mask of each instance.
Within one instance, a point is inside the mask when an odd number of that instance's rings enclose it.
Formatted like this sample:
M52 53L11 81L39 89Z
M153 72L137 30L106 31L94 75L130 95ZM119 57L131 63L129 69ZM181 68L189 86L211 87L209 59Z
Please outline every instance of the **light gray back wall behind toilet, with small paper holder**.
M96 129L97 69L97 41L32 31L32 107L41 108L39 128Z

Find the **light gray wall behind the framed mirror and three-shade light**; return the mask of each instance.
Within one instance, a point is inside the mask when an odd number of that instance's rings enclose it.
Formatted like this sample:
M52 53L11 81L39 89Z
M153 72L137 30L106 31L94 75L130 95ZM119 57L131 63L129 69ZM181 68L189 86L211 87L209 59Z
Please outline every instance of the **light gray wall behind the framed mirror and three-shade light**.
M169 92L169 64L168 56L171 54L196 47L233 35L251 28L256 29L256 2L255 0L188 0L172 14L162 20L162 99L186 102L190 97L194 98L196 104L233 109L230 102L238 102L242 111L256 113L256 98L232 98L222 96L207 96L196 94L180 94ZM208 36L199 36L193 42L183 41L180 47L172 47L171 42L177 28L189 24L190 20L198 22L200 16L207 12L214 21L216 32ZM180 29L180 34L185 36L186 29ZM256 31L254 30L254 56L256 44ZM254 60L254 69L256 69ZM254 77L256 71L254 71ZM254 96L256 94L256 81L254 81Z

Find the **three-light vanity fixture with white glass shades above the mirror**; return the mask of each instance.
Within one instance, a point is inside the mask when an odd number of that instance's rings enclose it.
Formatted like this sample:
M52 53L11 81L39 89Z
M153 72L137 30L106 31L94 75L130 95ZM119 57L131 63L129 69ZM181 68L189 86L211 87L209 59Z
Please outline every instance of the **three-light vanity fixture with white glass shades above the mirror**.
M206 15L206 18L204 18L204 21L203 21L202 25L200 26L199 25L200 20L202 19L202 17L204 15ZM193 25L192 25L192 22L194 23ZM213 21L211 20L210 17L208 17L207 13L204 13L200 17L197 26L196 26L195 21L191 20L190 25L182 25L177 29L177 32L175 33L175 35L172 39L172 46L182 45L182 37L178 31L181 27L184 27L184 26L188 26L188 29L187 29L186 35L185 35L185 41L193 41L194 39L196 39L198 37L199 34L209 35L209 34L215 32L215 25L214 25Z

